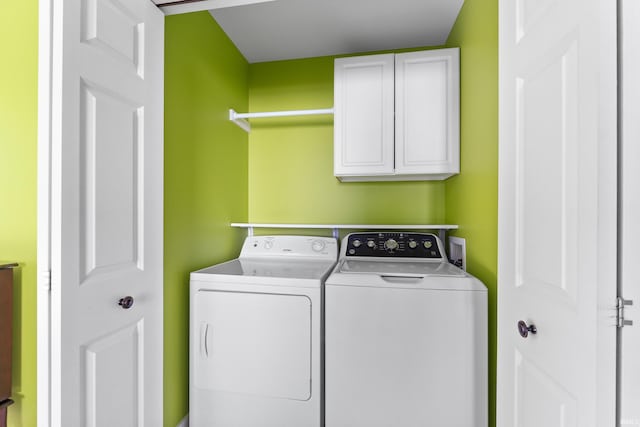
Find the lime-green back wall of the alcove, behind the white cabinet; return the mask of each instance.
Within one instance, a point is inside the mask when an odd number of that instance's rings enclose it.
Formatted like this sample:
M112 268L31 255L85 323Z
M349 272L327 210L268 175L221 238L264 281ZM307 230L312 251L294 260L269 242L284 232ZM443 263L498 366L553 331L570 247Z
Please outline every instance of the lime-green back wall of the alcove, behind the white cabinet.
M333 106L333 57L252 64L249 75L251 111ZM260 119L252 126L253 222L406 224L445 218L442 182L339 182L330 116Z

